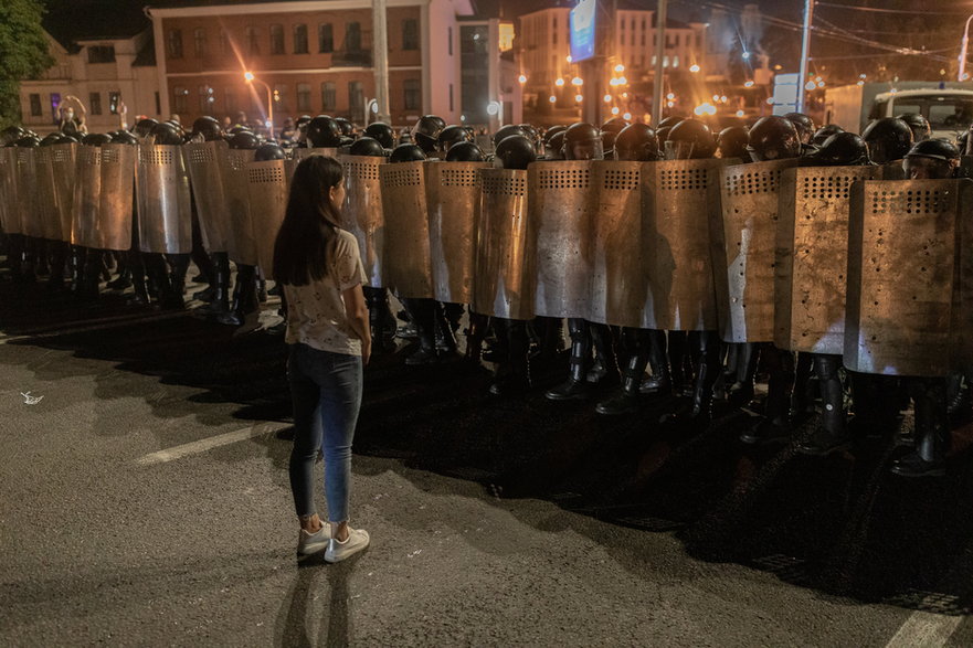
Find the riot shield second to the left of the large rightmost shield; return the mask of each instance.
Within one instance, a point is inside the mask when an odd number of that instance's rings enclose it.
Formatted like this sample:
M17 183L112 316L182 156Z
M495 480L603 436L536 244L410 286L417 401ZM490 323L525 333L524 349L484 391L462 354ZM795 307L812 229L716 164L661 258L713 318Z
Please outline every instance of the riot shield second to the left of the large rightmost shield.
M797 160L720 169L720 217L710 229L725 342L774 339L774 246L781 173Z

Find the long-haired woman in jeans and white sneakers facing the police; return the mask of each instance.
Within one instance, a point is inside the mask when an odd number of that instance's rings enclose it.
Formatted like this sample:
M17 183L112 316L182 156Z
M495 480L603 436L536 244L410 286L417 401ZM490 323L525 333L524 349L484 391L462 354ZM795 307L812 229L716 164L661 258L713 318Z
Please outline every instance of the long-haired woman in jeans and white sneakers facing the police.
M341 164L334 158L303 160L274 244L274 278L287 300L287 373L294 402L290 490L300 520L297 553L325 550L329 563L369 543L366 531L348 525L351 442L371 333L358 243L339 226L342 180ZM314 502L315 460L322 445L330 524L321 522Z

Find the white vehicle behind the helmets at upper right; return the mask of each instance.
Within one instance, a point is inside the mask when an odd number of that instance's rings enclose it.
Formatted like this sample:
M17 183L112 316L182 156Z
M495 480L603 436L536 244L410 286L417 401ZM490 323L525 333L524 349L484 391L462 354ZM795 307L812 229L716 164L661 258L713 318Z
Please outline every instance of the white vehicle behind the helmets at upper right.
M950 83L934 87L928 82L867 83L836 87L825 95L825 121L861 132L880 117L919 113L932 128L932 137L954 140L973 124L973 84ZM932 87L931 87L932 86Z

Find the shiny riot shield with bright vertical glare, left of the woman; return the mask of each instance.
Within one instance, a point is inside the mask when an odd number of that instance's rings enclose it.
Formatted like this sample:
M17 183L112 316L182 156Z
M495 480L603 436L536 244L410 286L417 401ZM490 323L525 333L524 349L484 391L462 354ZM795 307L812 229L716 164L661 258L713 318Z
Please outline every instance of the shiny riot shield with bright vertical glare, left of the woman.
M138 234L142 252L192 251L189 176L178 146L139 146L136 168Z

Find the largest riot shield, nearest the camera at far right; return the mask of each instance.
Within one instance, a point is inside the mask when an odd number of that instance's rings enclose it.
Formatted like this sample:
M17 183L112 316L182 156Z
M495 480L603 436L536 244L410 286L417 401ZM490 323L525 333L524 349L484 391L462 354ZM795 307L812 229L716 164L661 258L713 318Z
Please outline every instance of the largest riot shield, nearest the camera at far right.
M969 367L970 201L970 180L855 184L845 367L914 376L944 376Z

